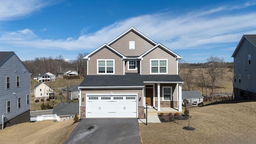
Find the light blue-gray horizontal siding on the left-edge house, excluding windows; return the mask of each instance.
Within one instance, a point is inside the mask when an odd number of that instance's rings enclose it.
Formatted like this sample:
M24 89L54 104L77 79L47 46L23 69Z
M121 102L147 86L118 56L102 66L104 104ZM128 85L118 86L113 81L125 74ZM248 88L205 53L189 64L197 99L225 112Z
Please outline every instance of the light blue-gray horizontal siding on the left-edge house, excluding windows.
M20 76L20 87L16 87L16 76ZM6 89L6 77L10 77L10 89ZM6 116L5 122L30 110L30 100L27 104L27 95L30 97L30 72L14 54L0 64L0 91L0 115ZM18 98L21 98L19 109ZM7 101L11 102L11 112L8 114ZM2 124L2 118L0 118L0 124Z

